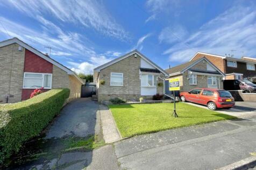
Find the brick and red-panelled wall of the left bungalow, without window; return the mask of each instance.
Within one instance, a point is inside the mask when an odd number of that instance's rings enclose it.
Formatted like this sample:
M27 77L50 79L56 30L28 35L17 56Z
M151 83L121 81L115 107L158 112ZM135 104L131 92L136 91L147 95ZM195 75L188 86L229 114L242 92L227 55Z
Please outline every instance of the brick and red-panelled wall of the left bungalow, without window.
M34 89L23 89L24 72L52 73L52 88L69 88L70 99L80 98L82 83L77 78L25 48L18 51L18 47L13 43L0 48L0 103L6 102L8 94L9 102L30 98Z

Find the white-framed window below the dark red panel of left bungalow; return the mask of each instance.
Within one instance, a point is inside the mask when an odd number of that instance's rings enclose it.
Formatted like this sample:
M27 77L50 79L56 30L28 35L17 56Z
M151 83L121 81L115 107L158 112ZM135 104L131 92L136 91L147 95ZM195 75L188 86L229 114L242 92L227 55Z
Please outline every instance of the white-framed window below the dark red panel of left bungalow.
M24 72L23 88L52 88L52 74Z

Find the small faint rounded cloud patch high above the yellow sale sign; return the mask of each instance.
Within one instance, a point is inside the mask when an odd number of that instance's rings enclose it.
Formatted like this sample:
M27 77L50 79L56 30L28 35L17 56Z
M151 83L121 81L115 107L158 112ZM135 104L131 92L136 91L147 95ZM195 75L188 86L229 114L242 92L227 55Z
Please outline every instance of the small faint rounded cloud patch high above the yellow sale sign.
M187 34L187 30L181 25L169 26L162 29L161 33L158 36L158 39L160 43L173 43L184 40Z

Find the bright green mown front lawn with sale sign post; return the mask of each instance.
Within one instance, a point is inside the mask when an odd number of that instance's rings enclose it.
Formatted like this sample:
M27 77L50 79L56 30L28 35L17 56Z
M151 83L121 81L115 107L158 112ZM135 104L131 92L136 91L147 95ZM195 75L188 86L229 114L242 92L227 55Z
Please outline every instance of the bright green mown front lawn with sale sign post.
M236 119L212 110L191 106L183 102L176 103L175 118L173 104L132 104L109 105L122 137L130 137L148 132L187 127L220 120Z

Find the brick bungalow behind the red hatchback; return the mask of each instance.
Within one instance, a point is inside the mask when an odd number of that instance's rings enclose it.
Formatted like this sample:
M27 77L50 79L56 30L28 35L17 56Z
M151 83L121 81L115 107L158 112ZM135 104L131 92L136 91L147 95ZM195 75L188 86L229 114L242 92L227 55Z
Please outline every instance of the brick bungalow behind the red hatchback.
M195 87L223 89L224 73L202 57L165 70L169 78L180 79L180 91L189 91Z

